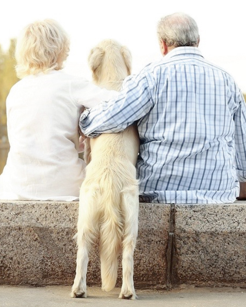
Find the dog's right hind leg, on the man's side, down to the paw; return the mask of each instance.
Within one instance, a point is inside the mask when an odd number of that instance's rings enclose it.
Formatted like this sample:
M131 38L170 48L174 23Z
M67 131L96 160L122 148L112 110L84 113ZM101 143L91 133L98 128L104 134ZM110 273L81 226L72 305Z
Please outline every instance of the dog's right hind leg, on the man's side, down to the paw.
M138 189L134 193L123 192L122 205L125 214L122 242L122 287L119 298L137 298L133 283L133 252L136 246L138 229Z

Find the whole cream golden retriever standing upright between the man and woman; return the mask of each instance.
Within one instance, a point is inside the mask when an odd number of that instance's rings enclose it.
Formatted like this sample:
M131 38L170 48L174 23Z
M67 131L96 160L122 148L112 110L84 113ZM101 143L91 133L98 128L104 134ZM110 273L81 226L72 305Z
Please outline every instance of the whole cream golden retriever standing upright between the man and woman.
M131 56L113 40L102 41L89 55L93 80L100 87L120 90L130 74ZM87 297L86 272L91 245L100 237L102 290L110 291L117 279L122 251L120 298L136 299L133 252L138 229L136 161L139 136L134 125L120 133L105 133L89 140L89 164L81 185L77 223L77 268L71 297Z

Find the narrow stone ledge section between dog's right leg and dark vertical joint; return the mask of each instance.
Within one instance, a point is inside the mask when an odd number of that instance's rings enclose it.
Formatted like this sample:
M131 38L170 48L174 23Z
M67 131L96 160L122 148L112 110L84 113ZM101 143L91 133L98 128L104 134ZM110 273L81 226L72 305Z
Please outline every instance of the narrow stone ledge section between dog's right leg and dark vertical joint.
M170 205L140 204L139 231L134 252L136 287L166 286L166 252L169 238Z

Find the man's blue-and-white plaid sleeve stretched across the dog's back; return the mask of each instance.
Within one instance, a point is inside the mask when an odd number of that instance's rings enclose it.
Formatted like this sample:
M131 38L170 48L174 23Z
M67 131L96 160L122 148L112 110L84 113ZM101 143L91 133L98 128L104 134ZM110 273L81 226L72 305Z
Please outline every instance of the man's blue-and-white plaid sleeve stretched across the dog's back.
M147 77L130 76L116 98L82 113L79 126L91 138L101 133L120 132L149 113L153 105Z

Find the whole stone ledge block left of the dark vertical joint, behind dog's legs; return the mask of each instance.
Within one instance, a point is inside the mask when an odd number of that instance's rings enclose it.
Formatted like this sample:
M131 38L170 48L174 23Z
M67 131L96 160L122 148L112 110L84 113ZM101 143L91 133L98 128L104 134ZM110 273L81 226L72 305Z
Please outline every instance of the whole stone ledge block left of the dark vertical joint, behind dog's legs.
M136 287L165 286L169 205L140 204L134 254ZM66 285L76 267L78 202L0 203L0 283ZM88 284L100 285L98 249L89 261ZM118 285L121 283L119 270Z

